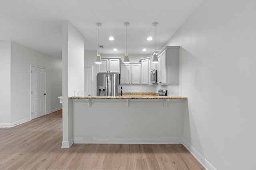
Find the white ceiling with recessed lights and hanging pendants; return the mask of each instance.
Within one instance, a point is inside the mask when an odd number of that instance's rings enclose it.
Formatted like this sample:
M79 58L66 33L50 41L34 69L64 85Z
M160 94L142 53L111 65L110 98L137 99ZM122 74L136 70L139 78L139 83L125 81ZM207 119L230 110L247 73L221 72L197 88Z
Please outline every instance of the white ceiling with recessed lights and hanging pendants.
M62 58L62 20L84 35L85 49L100 54L150 54L161 49L204 0L0 0L0 40ZM114 41L108 40L113 36ZM116 48L117 51L113 51ZM147 51L142 51L146 48Z

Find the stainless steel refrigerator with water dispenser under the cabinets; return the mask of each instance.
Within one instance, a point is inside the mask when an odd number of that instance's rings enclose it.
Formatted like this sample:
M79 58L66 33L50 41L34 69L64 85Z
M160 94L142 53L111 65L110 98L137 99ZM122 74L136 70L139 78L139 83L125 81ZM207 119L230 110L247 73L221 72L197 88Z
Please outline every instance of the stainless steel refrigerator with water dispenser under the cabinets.
M120 95L120 74L98 73L97 74L97 95L98 96L119 96Z

